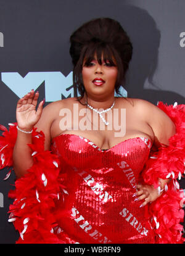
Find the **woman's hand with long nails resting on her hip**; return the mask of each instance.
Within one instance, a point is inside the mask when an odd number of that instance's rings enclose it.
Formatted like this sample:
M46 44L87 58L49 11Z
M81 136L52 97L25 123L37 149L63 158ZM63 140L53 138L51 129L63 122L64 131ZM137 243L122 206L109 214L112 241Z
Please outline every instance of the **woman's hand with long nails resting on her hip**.
M136 188L138 191L133 195L133 197L136 197L134 200L144 200L140 207L147 205L149 202L154 202L158 197L160 197L160 194L158 194L158 189L155 189L152 185L138 184L136 185Z

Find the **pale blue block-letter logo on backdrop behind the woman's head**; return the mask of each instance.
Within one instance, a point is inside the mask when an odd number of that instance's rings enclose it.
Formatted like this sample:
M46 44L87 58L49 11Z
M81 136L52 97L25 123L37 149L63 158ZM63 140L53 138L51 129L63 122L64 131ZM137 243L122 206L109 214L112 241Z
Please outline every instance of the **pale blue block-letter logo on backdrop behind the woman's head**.
M45 83L46 102L59 101L67 97L75 97L73 89L73 72L67 76L62 72L29 72L22 77L18 72L2 72L1 79L18 97L23 97L31 89ZM120 93L127 97L126 90L121 87ZM80 96L77 92L77 96ZM115 93L115 96L117 94Z

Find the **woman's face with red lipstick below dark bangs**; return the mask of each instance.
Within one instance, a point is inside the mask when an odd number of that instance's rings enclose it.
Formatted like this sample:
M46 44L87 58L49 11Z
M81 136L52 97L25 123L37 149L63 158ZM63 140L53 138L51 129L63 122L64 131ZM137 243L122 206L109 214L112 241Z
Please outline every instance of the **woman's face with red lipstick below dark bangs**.
M118 68L116 65L111 65L108 60L105 62L102 59L101 65L96 57L88 64L84 59L82 76L84 88L88 95L106 97L114 94Z

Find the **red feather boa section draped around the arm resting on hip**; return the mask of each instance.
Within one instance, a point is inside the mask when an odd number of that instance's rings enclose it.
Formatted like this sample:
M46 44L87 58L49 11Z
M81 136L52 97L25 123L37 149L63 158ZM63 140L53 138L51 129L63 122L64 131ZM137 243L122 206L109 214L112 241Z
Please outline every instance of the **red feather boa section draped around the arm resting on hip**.
M150 151L142 177L147 184L158 186L158 178L171 178L162 196L149 205L149 215L155 229L156 243L176 244L185 241L182 236L184 192L179 190L177 178L185 170L185 105L167 105L158 102L168 117L175 123L176 133L171 136L169 146L160 145L157 151Z

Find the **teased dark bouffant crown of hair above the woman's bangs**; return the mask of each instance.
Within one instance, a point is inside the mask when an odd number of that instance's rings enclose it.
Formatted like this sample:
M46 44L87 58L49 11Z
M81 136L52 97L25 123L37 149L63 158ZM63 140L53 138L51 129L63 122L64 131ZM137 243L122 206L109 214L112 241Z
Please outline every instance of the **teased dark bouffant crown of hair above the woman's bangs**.
M110 18L99 18L84 23L70 36L70 55L73 64L80 58L81 50L88 44L108 44L117 50L123 62L130 62L133 47L120 23ZM126 59L122 56L127 52Z

